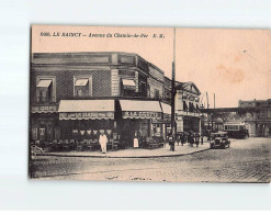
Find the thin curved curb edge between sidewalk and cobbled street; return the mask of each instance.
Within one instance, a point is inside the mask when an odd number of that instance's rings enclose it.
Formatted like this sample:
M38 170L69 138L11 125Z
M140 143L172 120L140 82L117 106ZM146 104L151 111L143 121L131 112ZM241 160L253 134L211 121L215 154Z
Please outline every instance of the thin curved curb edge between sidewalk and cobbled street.
M172 154L172 155L160 155L160 156L83 156L83 155L61 155L61 154L37 154L37 156L53 156L53 157L77 157L77 158L165 158L165 157L177 157L177 156L187 156L201 151L208 150L210 148L205 148L202 150L195 150L188 154Z

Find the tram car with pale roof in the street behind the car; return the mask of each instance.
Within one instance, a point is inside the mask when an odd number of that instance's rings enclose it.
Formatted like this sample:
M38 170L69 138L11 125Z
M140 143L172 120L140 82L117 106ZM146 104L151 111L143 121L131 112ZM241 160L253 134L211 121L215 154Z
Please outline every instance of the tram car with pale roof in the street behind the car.
M224 132L228 133L228 137L246 138L249 136L248 128L245 123L225 123Z

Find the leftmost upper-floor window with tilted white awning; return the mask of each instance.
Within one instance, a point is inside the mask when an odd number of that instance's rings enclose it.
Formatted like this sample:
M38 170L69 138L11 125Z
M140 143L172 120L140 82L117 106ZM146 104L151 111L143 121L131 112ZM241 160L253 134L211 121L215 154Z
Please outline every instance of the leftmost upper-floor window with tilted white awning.
M55 79L52 77L37 77L36 102L48 103L55 101Z

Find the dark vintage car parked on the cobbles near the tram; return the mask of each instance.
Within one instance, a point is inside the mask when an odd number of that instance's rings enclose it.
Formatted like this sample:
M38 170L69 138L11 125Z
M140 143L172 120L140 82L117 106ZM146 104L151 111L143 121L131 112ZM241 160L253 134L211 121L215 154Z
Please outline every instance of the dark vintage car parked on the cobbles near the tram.
M210 148L229 148L230 140L226 132L211 134Z

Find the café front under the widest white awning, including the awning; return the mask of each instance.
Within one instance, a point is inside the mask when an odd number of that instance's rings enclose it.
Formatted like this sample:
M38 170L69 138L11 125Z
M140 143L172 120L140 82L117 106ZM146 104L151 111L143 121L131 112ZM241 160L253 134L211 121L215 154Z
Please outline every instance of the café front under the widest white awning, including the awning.
M95 139L115 129L114 100L61 100L59 104L61 139Z

